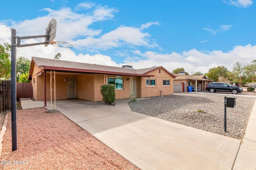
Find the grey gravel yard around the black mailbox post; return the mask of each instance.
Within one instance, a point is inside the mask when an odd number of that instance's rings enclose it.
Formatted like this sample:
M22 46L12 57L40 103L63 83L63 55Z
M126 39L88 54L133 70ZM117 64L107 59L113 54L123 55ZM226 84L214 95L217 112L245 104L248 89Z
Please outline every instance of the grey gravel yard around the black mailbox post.
M134 112L242 140L255 100L238 96L236 106L227 107L227 132L224 131L224 96L177 93L128 104Z

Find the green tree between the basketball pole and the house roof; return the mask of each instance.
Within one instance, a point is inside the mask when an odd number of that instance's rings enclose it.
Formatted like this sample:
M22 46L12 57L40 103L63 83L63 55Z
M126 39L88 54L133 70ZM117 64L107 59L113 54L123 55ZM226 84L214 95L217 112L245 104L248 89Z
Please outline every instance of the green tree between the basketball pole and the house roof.
M25 57L19 57L16 61L17 67L17 82L19 82L20 76L29 72L30 69L30 60L26 59Z

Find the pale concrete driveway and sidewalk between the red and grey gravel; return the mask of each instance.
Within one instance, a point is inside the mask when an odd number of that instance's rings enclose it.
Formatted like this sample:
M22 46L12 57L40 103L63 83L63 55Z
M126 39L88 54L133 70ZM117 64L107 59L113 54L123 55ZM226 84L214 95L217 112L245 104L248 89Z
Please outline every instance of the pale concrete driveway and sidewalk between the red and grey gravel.
M79 99L58 100L56 109L140 169L256 169L256 108L238 152L241 141L237 139L132 112L128 101L117 100L113 107Z

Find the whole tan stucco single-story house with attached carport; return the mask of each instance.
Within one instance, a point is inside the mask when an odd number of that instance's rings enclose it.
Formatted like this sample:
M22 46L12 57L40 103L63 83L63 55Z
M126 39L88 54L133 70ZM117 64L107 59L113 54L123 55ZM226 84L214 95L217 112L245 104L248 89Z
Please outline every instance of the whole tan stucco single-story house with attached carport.
M55 76L54 76L55 75ZM164 67L133 69L32 57L29 79L38 101L80 98L102 101L100 86L115 84L116 99L173 94L175 76Z

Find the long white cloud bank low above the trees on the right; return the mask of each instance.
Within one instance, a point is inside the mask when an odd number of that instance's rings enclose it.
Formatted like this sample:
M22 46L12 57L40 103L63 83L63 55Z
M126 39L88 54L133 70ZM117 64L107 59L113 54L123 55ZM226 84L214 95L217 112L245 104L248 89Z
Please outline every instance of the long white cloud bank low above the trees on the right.
M176 68L183 67L186 72L200 71L206 73L210 68L217 66L225 66L232 71L232 66L238 61L243 64L252 64L252 61L256 59L256 45L236 46L227 53L191 49L183 53L162 54L152 51L145 53L134 51L134 54L136 54L136 57L129 56L124 61L128 65L133 65L134 68L157 65L164 66L170 72Z

